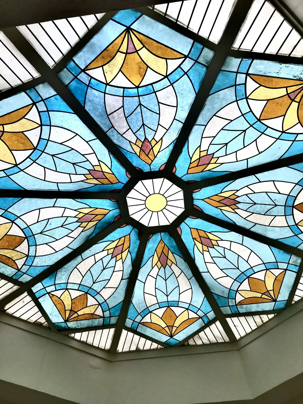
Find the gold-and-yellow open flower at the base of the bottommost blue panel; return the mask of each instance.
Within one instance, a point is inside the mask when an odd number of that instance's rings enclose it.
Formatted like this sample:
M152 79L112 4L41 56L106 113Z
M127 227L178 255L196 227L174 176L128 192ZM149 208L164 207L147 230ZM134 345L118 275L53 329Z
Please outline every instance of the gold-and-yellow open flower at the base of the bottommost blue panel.
M187 309L177 316L170 307L167 307L162 317L159 317L156 313L151 313L150 318L151 322L141 322L141 324L152 330L161 332L161 334L168 335L168 337L173 337L190 324L196 322L199 316L195 314L195 317L189 318L189 311Z

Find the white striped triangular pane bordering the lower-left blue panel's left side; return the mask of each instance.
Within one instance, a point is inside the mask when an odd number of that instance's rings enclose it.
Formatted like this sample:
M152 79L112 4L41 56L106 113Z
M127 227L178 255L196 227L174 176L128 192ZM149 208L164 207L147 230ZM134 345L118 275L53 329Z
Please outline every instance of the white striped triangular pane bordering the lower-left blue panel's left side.
M4 307L4 311L12 316L22 318L22 320L37 323L45 327L48 326L38 307L26 292L11 301L11 303L8 303Z

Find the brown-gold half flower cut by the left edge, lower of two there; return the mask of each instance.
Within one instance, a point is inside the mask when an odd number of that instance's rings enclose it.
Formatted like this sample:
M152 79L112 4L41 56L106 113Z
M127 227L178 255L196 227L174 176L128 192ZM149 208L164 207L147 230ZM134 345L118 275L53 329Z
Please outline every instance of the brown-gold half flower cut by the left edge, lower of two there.
M23 252L16 251L15 248L23 243L25 237L7 234L13 223L3 223L0 225L0 263L11 268L19 269L15 261L24 258Z

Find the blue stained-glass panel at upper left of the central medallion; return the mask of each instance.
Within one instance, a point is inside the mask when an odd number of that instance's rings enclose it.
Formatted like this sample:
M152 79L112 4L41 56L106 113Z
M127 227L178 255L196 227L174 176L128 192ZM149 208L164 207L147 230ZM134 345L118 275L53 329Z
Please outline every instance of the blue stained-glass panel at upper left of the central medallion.
M110 191L125 170L46 83L0 101L0 188Z

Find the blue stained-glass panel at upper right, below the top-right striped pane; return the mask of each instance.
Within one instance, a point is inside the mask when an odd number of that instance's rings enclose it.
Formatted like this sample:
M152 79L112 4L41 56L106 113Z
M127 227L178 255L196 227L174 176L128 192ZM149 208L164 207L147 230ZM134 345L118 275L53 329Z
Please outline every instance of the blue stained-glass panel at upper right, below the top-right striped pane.
M302 65L227 57L176 174L202 180L300 154L302 79Z

